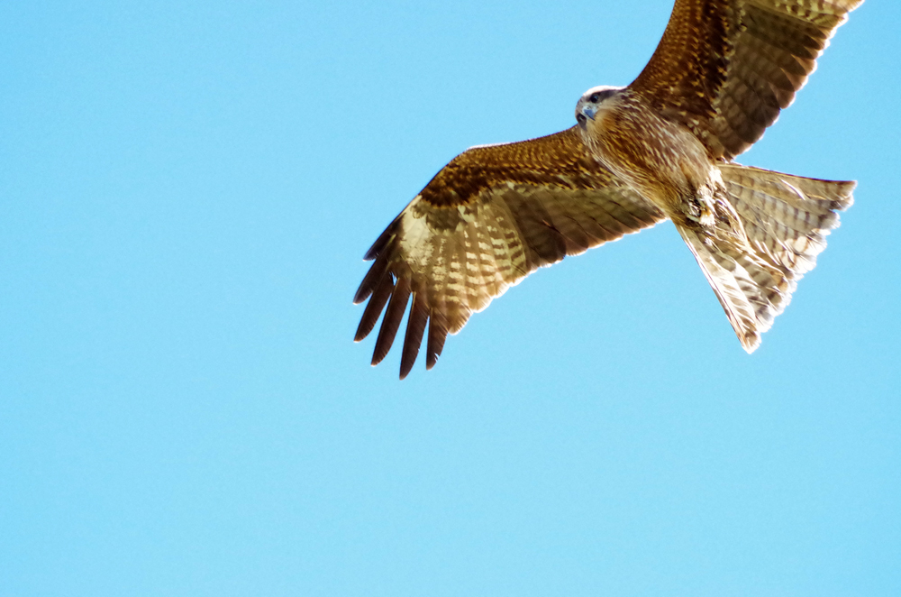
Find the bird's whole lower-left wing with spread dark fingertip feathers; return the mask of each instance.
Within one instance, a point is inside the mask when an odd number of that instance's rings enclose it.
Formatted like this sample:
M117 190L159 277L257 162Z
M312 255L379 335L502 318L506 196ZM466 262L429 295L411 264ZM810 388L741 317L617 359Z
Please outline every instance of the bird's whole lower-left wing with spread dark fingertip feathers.
M426 367L447 335L537 268L664 218L587 152L575 128L460 153L372 245L355 303L369 299L355 340L387 304L372 364L394 342L407 303L401 379L428 323Z

